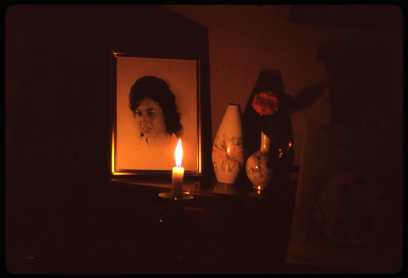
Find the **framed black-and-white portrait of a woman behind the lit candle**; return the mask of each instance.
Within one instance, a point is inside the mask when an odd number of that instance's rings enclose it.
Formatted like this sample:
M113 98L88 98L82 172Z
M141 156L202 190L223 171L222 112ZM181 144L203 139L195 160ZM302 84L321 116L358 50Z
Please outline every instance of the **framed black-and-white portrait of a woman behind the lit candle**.
M201 176L200 61L111 52L112 174Z

